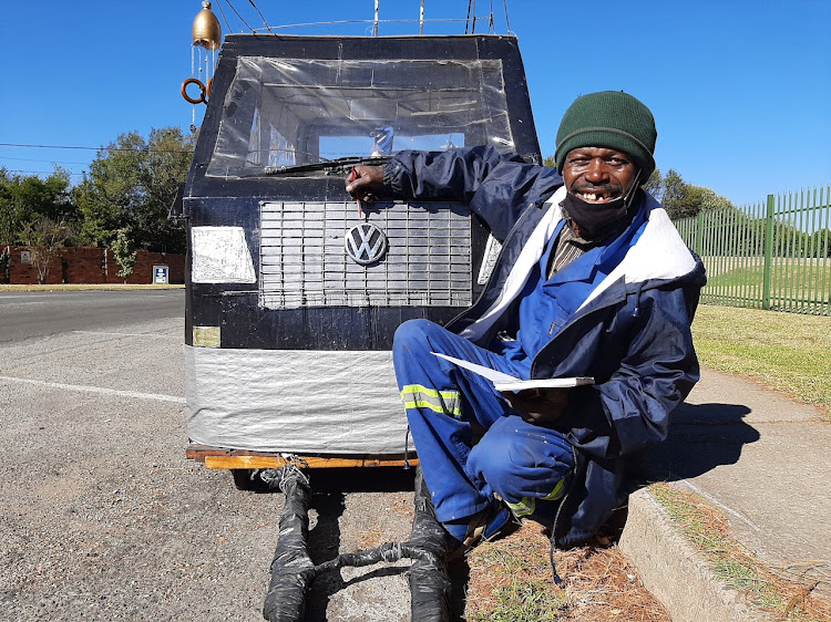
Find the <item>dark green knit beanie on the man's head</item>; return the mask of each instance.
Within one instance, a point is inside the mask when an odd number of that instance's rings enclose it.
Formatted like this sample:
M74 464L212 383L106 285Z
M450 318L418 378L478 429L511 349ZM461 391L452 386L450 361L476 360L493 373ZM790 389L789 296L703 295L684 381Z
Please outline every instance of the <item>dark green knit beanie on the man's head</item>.
M655 170L655 118L644 104L623 91L601 91L574 100L557 131L554 159L563 172L565 156L578 147L606 147L628 155L645 183Z

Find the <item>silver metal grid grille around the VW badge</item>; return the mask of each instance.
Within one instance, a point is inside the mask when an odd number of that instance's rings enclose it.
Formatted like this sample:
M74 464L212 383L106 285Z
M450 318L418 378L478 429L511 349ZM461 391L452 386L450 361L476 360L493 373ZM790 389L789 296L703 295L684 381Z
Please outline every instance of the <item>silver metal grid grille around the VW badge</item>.
M370 214L389 239L370 266L347 257L361 222L355 203L263 203L259 303L314 307L468 307L473 302L470 210L394 204Z

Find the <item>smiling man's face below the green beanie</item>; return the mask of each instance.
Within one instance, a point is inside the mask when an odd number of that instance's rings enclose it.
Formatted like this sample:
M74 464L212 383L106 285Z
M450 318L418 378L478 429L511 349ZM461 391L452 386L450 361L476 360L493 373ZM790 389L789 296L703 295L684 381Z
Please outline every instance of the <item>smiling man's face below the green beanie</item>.
M624 196L635 183L637 167L623 152L578 147L563 165L565 187L587 203L608 203Z

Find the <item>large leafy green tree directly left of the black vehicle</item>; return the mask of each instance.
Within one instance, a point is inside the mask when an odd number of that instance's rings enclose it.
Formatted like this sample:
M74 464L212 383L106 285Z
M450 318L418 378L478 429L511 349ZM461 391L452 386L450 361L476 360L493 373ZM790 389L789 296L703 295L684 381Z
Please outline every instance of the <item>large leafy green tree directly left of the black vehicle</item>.
M84 214L83 232L112 248L119 231L134 247L181 252L185 235L167 220L178 185L185 180L195 144L179 127L121 134L99 151L74 198Z

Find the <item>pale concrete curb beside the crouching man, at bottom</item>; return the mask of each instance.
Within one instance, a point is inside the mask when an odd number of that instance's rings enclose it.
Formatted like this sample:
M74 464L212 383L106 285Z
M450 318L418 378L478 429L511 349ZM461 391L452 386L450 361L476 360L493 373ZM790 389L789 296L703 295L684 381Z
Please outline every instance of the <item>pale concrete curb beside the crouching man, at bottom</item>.
M629 496L618 547L637 568L646 589L667 608L673 622L773 620L716 578L704 556L645 488Z

